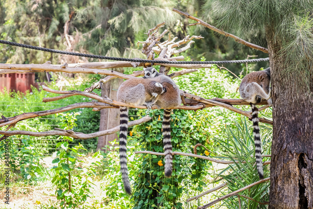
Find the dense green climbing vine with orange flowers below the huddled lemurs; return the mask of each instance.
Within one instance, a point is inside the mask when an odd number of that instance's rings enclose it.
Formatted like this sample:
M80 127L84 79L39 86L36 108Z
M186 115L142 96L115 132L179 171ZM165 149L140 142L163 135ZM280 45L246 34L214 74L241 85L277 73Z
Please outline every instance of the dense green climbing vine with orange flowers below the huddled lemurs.
M162 115L161 111L151 112L150 116L153 121L141 124L133 129L134 136L142 145L143 150L153 152L163 152L162 144ZM193 117L189 112L183 110L174 110L172 114L172 144L173 151L191 151L192 144L207 144L207 133L203 131L202 126L190 126ZM193 120L200 122L200 120ZM199 148L203 149L203 148ZM184 182L189 182L198 189L202 190L203 182L201 175L206 174L206 162L203 159L187 159L181 156L174 156L173 174L171 178L164 177L164 166L160 164L163 157L146 154L143 156L143 162L137 171L134 184L134 208L150 208L156 206L160 208L182 208L182 192L184 190ZM182 161L187 165L184 169L187 173L182 173ZM188 192L188 191L185 191Z

